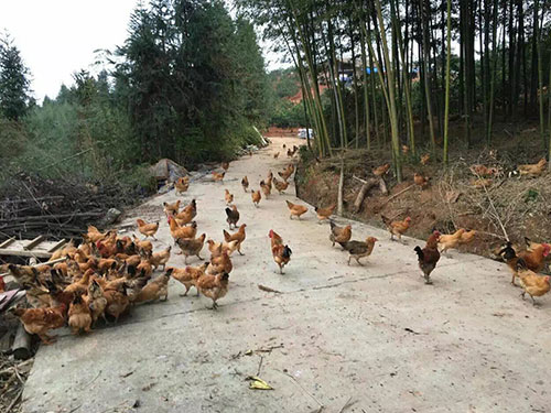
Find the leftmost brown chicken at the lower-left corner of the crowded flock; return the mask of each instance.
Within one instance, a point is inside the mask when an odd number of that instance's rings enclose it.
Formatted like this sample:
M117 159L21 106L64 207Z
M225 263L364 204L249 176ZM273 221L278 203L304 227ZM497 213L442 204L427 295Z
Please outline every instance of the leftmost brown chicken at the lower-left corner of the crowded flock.
M11 312L19 317L26 333L35 334L42 343L50 345L55 337L48 336L47 332L65 325L65 313L67 306L61 304L48 308L13 308Z

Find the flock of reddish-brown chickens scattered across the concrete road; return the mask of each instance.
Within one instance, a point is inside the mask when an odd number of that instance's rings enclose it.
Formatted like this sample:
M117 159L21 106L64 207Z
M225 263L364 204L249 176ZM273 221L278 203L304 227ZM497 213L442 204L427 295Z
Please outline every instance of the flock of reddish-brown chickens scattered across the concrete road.
M285 145L283 145L285 148ZM288 150L288 156L292 157L298 148ZM279 152L274 157L279 155ZM215 182L223 182L228 163L223 163L224 172L213 172ZM377 176L388 172L389 165L382 165L374 171ZM283 171L278 172L281 180L273 176L271 171L266 180L259 183L260 189L251 188L251 200L259 207L262 198L269 199L272 188L282 194L289 186L289 178L294 173L294 165L289 164ZM249 180L244 176L241 186L247 193ZM190 178L182 177L175 182L176 194L185 193L190 187ZM173 204L164 203L164 213L168 217L171 236L174 244L179 247L180 254L184 256L185 268L165 268L171 257L172 247L154 252L153 244L148 240L154 238L160 222L145 222L137 219L138 230L145 237L139 239L136 236L120 236L117 230L111 229L100 232L96 227L88 227L83 236L83 241L72 240L62 250L55 252L51 260L65 258L65 261L55 264L42 265L9 265L9 271L18 282L26 290L26 298L31 308L12 308L26 332L36 334L44 344L53 343L54 338L48 336L51 329L68 325L74 334L91 330L96 322L101 318L108 323L108 318L117 322L120 315L127 313L133 305L168 300L169 280L172 278L185 286L187 295L192 286L197 295L203 294L213 301L213 308L217 307L217 301L228 292L229 274L234 269L231 256L235 251L242 254L241 247L246 240L246 224L238 227L240 219L239 210L234 204L234 195L225 189L226 215L230 233L226 230L224 241L216 242L206 240L206 233L197 237L197 204L193 199L188 205L181 208L181 200ZM309 208L303 205L287 200L290 219L301 219ZM378 241L375 237L367 237L365 241L350 240L352 226L339 227L331 220L335 205L326 208L315 208L320 222L329 221L329 240L333 246L338 243L347 251L348 264L354 259L361 265L360 259L367 258L374 251ZM381 216L382 222L390 232L390 239L395 237L401 241L401 237L408 231L411 218L403 220L391 220ZM466 231L460 228L451 235L441 235L433 231L424 248L415 247L419 268L423 272L425 282L432 283L431 273L436 268L441 252L456 249L461 244L469 243L475 238L476 231ZM292 250L285 244L282 237L270 230L271 253L280 273L291 261ZM190 257L201 257L201 251L206 243L210 258L197 267L187 265ZM540 275L544 267L545 257L551 248L547 243L534 243L527 239L527 249L518 252L508 242L499 254L506 260L512 271L511 283L520 280L523 290L522 297L528 293L533 302L534 296L541 296L550 290L550 278ZM163 273L153 278L155 270L162 267Z

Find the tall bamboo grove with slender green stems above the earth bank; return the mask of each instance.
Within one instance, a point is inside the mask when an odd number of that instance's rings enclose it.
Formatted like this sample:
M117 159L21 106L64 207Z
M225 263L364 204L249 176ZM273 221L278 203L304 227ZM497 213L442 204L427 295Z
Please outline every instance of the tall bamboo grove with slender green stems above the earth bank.
M551 151L545 0L235 3L292 61L321 156L389 145L400 180L403 144L447 162L460 142L490 145L497 122L531 119Z

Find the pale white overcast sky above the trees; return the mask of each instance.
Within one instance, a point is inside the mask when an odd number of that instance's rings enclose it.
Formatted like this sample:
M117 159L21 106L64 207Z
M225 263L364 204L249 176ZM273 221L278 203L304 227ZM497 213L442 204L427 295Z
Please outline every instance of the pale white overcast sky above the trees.
M94 72L94 51L115 50L127 37L138 0L0 0L0 32L7 30L31 69L39 102L55 98L73 74ZM281 57L262 44L269 68Z

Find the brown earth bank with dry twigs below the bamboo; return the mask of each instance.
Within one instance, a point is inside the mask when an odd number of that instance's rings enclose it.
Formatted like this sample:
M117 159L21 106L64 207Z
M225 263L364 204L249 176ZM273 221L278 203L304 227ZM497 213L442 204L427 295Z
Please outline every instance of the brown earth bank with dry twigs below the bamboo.
M551 230L551 174L545 170L539 177L526 177L516 172L518 164L536 163L543 154L537 133L533 130L528 133L519 133L497 150L475 148L452 153L447 169L432 155L423 165L420 160L430 154L426 150L417 155L402 153L403 181L398 183L390 170L383 176L388 194L375 185L358 211L354 203L363 186L360 180L375 178L372 170L391 163L391 153L377 149L346 151L343 215L378 227L382 227L381 215L391 219L409 216L412 225L408 235L422 239L433 229L443 233L458 228L475 229L478 231L475 241L462 246L462 250L490 258L496 257L496 249L507 238L520 247L525 246L525 237L547 241ZM320 160L303 146L295 176L301 198L318 207L337 203L339 156ZM499 172L482 185L480 176L471 171L476 164L496 167ZM414 185L415 173L430 180L425 187Z

